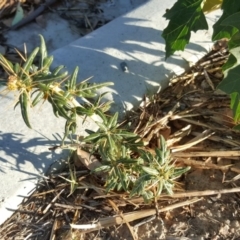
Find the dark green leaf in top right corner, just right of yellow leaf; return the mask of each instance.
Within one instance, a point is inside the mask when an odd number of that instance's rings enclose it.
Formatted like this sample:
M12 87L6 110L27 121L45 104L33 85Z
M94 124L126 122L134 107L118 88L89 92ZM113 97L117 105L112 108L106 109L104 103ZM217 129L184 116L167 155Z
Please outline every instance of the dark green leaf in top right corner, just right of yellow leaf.
M222 10L223 10L222 16L213 25L213 29L214 29L213 35L212 35L213 41L216 41L222 38L230 39L238 31L236 27L230 24L226 24L226 22L223 25L223 22L225 19L232 16L234 13L237 13L240 11L239 0L224 0L222 3Z

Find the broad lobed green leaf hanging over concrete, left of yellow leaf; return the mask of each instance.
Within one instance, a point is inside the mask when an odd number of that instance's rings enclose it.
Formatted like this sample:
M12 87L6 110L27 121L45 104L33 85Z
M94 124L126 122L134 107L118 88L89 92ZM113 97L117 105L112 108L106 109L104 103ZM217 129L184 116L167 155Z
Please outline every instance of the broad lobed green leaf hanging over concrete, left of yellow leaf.
M184 50L189 43L191 31L208 29L202 11L203 0L178 0L164 17L169 19L162 36L166 41L166 58L177 50Z

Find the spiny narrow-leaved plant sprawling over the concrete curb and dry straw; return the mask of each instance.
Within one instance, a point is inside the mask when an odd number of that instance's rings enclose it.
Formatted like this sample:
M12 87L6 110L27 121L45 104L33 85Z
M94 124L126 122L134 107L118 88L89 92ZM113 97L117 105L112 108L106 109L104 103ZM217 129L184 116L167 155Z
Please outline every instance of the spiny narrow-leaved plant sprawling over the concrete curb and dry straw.
M76 133L77 116L97 115L100 120L94 121L98 130L86 129L89 135L82 143L89 146L91 154L99 156L100 167L91 170L92 174L100 172L105 176L106 191L125 191L129 196L142 196L146 201L159 196L162 191L172 194L175 179L189 168L174 165L164 138L161 137L161 148L154 154L144 149L137 134L120 127L117 113L106 114L111 102L103 102L105 93L99 95L97 90L112 83L96 84L87 80L77 83L78 67L70 76L63 66L51 70L53 56L48 56L42 36L40 41L40 47L29 56L18 51L21 63L13 64L0 54L0 65L7 73L1 84L6 87L4 91L18 93L15 107L20 106L25 124L31 128L29 108L48 101L54 115L66 120L64 144L66 137Z

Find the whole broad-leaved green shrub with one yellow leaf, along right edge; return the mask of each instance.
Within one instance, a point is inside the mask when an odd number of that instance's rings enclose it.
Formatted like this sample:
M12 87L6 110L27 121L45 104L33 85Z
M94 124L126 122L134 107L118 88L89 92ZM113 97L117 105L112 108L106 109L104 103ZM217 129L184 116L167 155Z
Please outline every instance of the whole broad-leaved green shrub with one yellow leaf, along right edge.
M231 97L235 121L240 120L240 1L237 0L178 0L164 14L169 20L162 36L166 41L166 58L177 50L184 50L191 31L207 30L205 13L222 9L213 26L212 40L229 39L230 56L223 66L224 79L218 88Z

